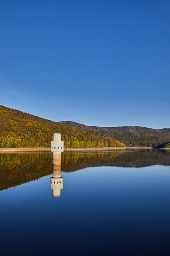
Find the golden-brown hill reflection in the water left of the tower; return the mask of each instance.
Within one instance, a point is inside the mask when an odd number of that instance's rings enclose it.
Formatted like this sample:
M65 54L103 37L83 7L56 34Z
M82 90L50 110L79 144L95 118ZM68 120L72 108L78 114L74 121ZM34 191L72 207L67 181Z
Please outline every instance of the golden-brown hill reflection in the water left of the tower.
M0 154L0 190L33 181L51 173L51 154Z

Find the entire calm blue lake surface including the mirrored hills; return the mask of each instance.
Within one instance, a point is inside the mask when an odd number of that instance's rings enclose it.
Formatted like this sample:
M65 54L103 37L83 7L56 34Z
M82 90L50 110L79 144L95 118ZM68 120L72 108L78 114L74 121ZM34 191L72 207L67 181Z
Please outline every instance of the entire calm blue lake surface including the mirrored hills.
M129 149L130 150L130 149ZM0 154L1 255L170 255L170 150Z

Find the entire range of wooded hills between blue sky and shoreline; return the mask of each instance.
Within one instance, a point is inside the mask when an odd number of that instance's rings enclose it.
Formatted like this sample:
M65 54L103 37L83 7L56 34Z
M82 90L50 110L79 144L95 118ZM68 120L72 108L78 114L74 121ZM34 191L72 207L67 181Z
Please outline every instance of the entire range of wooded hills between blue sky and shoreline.
M170 146L170 129L95 127L71 121L53 122L0 105L0 147L50 147L60 132L66 148L103 146Z

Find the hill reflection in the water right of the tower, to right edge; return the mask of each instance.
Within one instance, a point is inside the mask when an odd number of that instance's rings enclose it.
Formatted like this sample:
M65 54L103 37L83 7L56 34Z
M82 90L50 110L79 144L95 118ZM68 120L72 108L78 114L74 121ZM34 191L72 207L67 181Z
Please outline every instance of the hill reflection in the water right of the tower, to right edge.
M170 165L170 151L138 150L95 153L65 153L62 158L62 171L70 172L94 166L145 167Z

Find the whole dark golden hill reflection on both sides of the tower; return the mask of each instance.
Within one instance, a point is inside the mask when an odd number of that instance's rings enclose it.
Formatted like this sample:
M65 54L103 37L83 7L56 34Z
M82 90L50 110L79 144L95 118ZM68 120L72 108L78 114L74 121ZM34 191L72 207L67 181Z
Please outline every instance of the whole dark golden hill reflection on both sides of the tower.
M52 157L50 152L0 154L0 190L50 175L53 171ZM61 162L63 172L94 166L170 166L170 151L65 152Z

